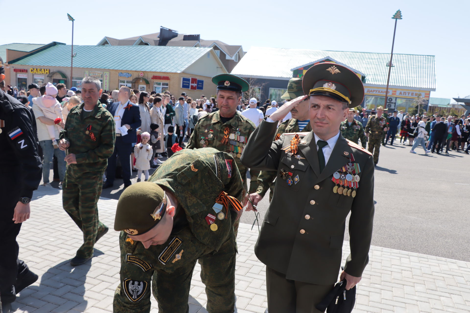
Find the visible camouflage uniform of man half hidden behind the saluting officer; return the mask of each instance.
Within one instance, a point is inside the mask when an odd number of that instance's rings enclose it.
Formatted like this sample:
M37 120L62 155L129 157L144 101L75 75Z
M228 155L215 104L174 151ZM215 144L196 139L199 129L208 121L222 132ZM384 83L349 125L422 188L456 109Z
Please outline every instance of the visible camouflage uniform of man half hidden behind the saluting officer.
M274 137L273 141L279 139L279 137L281 137L281 135L284 133L310 130L312 130L312 125L310 125L310 123L308 123L303 130L300 130L298 128L297 120L295 118L290 118L289 120L282 122L282 124L279 125L276 130L276 136ZM264 198L266 192L268 191L268 189L270 189L269 202L271 202L271 199L273 198L275 184L274 179L276 178L276 174L276 171L261 171L258 175L258 189L256 190L256 193L258 193L261 197Z

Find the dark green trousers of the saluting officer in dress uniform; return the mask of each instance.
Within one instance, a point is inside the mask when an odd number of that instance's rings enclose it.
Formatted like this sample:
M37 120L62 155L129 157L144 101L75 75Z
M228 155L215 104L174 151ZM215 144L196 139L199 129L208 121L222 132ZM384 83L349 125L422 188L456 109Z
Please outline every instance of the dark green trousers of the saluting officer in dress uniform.
M286 278L285 274L266 267L267 309L269 313L320 313L315 308L334 288Z

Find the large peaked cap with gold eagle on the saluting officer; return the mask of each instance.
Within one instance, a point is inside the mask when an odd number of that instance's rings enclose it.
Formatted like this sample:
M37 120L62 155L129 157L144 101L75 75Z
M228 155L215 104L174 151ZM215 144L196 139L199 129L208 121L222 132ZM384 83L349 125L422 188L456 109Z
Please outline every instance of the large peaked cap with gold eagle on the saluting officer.
M352 70L337 63L318 63L304 74L304 94L326 96L357 107L364 99L364 85Z

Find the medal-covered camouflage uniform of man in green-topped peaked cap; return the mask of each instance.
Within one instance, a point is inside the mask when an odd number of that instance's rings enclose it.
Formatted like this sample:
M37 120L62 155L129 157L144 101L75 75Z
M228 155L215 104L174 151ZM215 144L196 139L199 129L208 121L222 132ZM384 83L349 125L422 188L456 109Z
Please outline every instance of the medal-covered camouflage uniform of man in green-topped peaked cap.
M238 144L238 146L235 146L233 145L234 142L232 142L232 139L228 139L228 142L225 144L222 143L221 141L224 138L224 130L226 127L228 127L228 131L231 136L232 134L235 136L235 133L238 129L240 132L239 136L243 137L243 143L241 141L235 140L235 144ZM189 137L186 148L199 149L206 145L207 147L215 148L219 151L231 153L234 156L235 163L242 176L244 190L248 191L249 193L253 193L258 188L257 179L259 171L250 170L251 181L250 190L248 190L246 182L246 172L248 168L240 162L240 156L243 152L244 145L246 145L248 142L248 138L255 128L255 124L241 115L239 111L235 111L235 116L230 121L225 123L220 120L220 112L216 111L205 115L203 118L197 121L196 126L194 127L194 131L191 134L191 137ZM204 140L204 144L201 143L201 140ZM238 223L239 221L235 222L235 236L237 235L238 231Z

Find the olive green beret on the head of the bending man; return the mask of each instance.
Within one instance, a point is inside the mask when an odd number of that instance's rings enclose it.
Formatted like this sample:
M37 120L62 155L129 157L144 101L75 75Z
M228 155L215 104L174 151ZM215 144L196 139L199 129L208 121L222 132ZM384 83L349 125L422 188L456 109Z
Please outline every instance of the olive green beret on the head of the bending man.
M152 229L165 214L168 198L156 183L141 182L127 187L116 208L114 230L141 235Z

